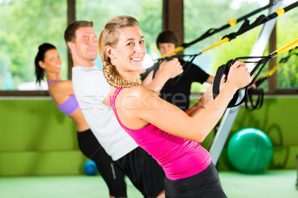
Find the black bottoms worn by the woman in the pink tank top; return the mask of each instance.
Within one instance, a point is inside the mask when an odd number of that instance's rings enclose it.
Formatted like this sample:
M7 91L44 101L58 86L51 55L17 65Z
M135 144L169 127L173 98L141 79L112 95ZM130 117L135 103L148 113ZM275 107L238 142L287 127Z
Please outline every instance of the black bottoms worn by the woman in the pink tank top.
M184 179L164 178L165 198L226 198L219 174L211 164L202 172Z

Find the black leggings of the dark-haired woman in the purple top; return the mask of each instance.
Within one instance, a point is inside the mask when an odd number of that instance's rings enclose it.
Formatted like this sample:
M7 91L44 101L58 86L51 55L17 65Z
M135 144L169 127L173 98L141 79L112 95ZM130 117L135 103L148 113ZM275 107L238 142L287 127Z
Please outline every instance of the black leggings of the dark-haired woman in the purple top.
M109 188L110 196L126 198L124 174L101 147L90 129L77 132L78 147L82 153L92 159Z

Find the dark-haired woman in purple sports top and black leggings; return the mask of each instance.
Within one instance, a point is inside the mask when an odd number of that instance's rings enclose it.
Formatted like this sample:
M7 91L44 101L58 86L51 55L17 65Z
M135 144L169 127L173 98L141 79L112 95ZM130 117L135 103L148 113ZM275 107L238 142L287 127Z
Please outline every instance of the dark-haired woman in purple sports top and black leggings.
M36 83L40 84L46 73L50 96L57 107L76 123L78 146L86 157L96 163L99 173L109 188L110 198L126 198L123 172L93 135L74 97L72 81L62 80L60 71L61 58L55 46L47 43L40 45L35 57Z

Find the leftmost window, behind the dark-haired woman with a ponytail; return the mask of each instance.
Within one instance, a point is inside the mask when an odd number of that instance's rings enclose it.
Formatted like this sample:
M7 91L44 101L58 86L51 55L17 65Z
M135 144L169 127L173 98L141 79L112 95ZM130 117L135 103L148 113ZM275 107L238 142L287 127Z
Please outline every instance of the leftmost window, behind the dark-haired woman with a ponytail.
M0 0L0 90L47 90L35 83L38 46L50 43L62 57L67 78L67 1Z

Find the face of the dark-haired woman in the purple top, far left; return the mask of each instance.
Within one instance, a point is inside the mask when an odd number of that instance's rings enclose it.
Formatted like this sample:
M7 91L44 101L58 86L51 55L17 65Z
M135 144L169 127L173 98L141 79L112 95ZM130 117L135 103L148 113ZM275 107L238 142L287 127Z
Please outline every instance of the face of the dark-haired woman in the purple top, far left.
M39 65L48 73L59 73L61 71L61 58L57 49L46 51L44 60Z

